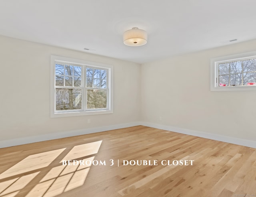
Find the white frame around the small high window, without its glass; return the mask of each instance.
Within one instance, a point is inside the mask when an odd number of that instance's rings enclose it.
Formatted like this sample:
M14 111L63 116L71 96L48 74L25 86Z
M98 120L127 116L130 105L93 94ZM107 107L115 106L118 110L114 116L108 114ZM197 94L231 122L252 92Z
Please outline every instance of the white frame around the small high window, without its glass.
M256 85L243 86L219 86L218 81L218 64L229 61L241 61L256 58L256 51L216 57L210 60L210 90L211 91L252 91L256 90Z

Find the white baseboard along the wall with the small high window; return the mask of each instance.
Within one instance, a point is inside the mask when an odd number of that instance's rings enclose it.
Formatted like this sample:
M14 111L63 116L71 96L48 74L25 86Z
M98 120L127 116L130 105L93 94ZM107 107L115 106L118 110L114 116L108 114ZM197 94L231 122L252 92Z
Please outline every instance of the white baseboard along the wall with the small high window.
M233 138L233 137L216 135L216 134L205 133L205 132L200 132L200 131L194 131L194 130L189 130L189 129L184 129L184 128L177 128L177 127L173 127L173 126L154 124L154 123L150 123L150 122L140 122L140 124L143 126L148 126L148 127L152 127L152 128L158 128L158 129L172 131L172 132L176 132L176 133L187 134L190 136L197 136L197 137L201 137L201 138L207 138L210 140L217 140L220 142L227 142L230 144L237 144L237 145L241 145L241 146L247 146L250 148L256 148L256 141L252 141L252 140Z

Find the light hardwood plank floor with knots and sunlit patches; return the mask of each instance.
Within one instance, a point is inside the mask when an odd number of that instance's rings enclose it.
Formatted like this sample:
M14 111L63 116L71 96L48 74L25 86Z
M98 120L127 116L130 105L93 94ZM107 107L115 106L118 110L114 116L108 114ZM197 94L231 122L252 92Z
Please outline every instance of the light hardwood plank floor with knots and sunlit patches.
M122 165L123 160L158 165ZM162 160L194 162L161 165ZM0 197L12 196L256 197L256 149L146 126L2 148Z

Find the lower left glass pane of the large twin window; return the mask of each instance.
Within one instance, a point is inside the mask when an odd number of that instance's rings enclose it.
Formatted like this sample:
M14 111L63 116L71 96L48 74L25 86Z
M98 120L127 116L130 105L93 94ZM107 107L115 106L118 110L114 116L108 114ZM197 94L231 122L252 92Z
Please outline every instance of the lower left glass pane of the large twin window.
M82 109L81 89L56 89L56 110Z

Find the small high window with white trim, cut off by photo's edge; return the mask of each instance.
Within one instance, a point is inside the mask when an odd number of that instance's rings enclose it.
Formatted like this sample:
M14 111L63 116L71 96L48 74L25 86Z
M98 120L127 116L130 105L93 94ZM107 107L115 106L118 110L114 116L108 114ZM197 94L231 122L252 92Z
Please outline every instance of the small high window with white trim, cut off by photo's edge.
M256 53L211 59L211 90L256 90Z

